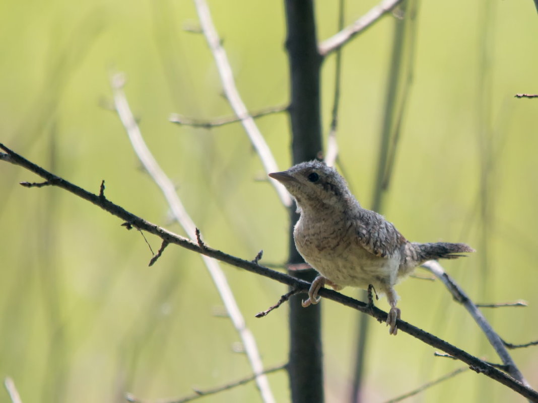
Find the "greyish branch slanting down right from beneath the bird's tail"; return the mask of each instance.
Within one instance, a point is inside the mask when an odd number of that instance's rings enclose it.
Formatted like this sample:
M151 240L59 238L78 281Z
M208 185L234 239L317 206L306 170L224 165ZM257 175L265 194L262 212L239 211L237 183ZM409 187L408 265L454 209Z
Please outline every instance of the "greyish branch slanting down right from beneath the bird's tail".
M502 363L507 366L507 372L521 382L524 385L528 386L527 381L523 377L522 373L515 365L512 357L508 354L504 342L499 337L499 335L493 330L490 323L486 320L482 312L476 307L476 305L471 301L467 294L462 290L462 288L456 284L456 282L444 271L439 262L430 260L422 265L422 267L428 269L434 276L440 279L443 284L450 291L452 296L462 304L465 309L471 314L472 318L477 322L478 326L482 329L484 334L487 337L487 340L490 341L490 344L493 346L495 351L502 360Z

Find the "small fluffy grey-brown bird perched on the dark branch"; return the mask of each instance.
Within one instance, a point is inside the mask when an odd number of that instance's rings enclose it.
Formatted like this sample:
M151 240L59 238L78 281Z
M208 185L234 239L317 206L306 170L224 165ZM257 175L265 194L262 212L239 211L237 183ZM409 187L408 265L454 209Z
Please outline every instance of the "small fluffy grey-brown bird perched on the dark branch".
M293 230L295 247L318 272L308 290L307 307L320 302L324 285L374 288L386 295L390 311L386 325L398 333L401 311L394 285L428 260L453 259L474 252L465 243L409 242L383 215L363 208L345 179L322 161L307 161L268 174L295 199L300 214Z

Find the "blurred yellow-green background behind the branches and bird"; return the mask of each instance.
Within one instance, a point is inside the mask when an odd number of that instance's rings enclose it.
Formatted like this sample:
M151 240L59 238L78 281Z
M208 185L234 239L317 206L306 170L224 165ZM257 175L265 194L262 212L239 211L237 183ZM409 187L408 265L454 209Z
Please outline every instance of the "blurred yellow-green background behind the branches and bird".
M375 1L348 2L346 23ZM288 70L281 1L209 3L250 110L285 104ZM318 35L336 32L336 2L316 3ZM486 310L501 337L538 339L538 17L530 0L422 2L414 81L383 213L413 241L461 241L478 252L444 264L478 302L524 299L526 308ZM383 119L393 17L345 47L338 143L357 198L371 205ZM114 112L109 74L123 71L126 94L148 146L178 185L204 239L244 258L286 259L287 213L240 125L211 131L169 123L172 112L228 116L229 105L191 1L49 0L0 2L0 139L83 188L102 179L113 202L171 225L167 205L140 169ZM323 121L332 106L334 57L323 68ZM279 168L290 164L285 114L258 119ZM0 375L24 402L124 401L181 397L251 373L239 337L218 315L222 303L196 254L168 247L157 264L143 237L55 188L24 189L30 172L0 163ZM147 236L153 250L158 239ZM287 307L264 319L285 287L223 267L264 365L287 358ZM421 269L417 270L419 274ZM356 290L345 293L357 295ZM499 362L463 307L438 282L398 287L402 318ZM386 309L385 300L379 301ZM358 314L323 303L328 402L346 401ZM462 366L429 346L388 335L373 319L365 396L383 402ZM513 351L538 387L536 348ZM283 371L269 376L289 400ZM5 391L0 402L9 401ZM253 384L200 401L260 401ZM466 371L415 402L523 401Z

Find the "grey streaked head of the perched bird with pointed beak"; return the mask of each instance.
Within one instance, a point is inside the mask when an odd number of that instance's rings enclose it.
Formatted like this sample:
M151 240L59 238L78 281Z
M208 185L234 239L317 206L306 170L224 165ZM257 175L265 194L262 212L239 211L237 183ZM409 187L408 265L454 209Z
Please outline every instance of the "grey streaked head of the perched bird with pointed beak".
M270 177L284 186L295 199L298 212L342 208L355 201L345 179L334 168L320 161L294 165L287 171L273 172Z

